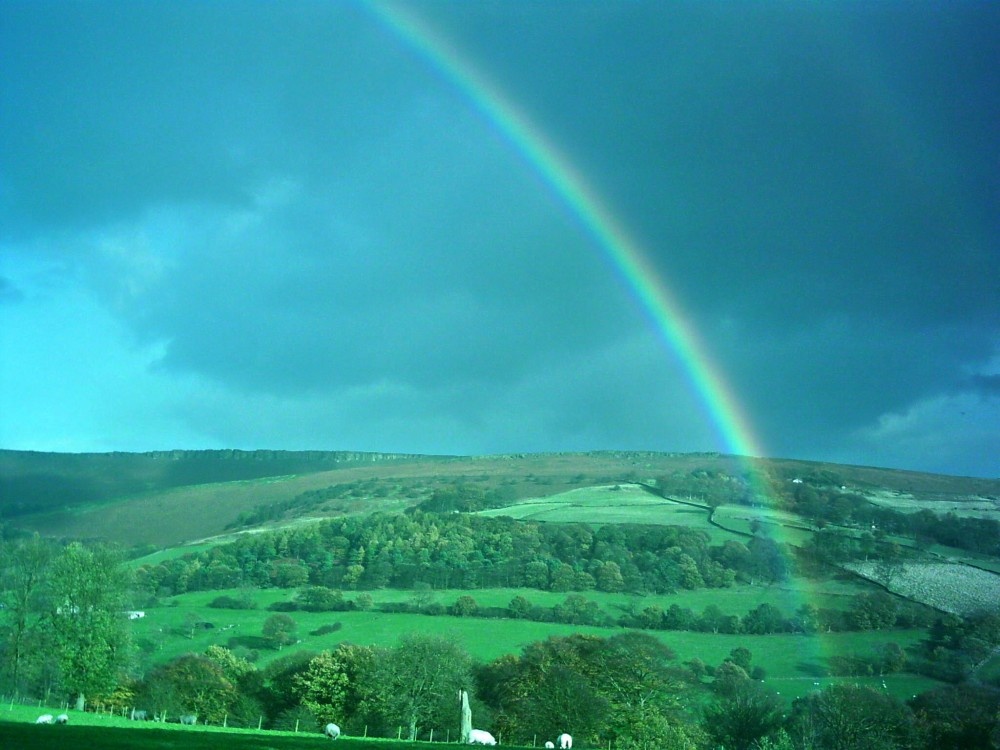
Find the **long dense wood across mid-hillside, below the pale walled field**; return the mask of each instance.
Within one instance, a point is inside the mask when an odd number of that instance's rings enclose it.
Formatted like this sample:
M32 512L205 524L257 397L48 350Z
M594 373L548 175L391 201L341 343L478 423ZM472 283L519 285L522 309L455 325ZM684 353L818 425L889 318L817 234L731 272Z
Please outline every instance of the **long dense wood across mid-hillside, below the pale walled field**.
M240 585L333 589L528 587L666 593L787 575L773 540L709 544L681 526L538 524L458 513L373 514L241 536L142 567L151 595Z

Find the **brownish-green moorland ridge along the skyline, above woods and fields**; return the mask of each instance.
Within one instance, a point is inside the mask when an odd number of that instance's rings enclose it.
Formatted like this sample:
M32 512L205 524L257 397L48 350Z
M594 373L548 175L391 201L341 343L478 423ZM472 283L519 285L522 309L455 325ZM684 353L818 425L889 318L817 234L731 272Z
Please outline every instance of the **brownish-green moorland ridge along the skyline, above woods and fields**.
M794 480L899 510L995 517L1000 480L718 454L457 457L350 451L0 451L0 519L47 536L166 547L299 519L402 510L459 488L491 507L616 482L706 504L773 505Z

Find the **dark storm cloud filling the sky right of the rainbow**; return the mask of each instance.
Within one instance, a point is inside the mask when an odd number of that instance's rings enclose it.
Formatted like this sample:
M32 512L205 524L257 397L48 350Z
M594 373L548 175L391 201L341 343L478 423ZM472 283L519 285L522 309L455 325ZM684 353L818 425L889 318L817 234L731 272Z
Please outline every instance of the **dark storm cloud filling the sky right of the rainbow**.
M533 30L558 9L491 8L440 22L518 51L490 63L600 174L769 444L842 435L989 362L995 8L638 3L553 40Z

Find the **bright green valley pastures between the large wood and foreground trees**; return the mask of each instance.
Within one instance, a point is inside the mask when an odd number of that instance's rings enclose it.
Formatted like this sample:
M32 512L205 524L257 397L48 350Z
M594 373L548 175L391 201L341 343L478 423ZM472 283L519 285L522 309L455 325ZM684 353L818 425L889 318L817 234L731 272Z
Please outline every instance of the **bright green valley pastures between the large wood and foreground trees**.
M847 584L831 585L829 597L848 596L850 588L838 593L835 589ZM734 600L729 606L750 604L754 601L756 590L765 591L764 587L741 587L733 592ZM692 595L705 597L701 601L715 603L720 608L725 606L727 590L714 592L688 592ZM147 609L147 615L142 620L133 622L136 638L144 642L146 658L152 663L173 659L189 652L204 652L209 646L220 645L229 648L243 647L257 651L255 662L258 668L263 668L274 659L296 650L322 651L333 649L341 642L363 645L391 647L397 644L403 633L426 635L447 634L455 639L472 657L478 661L491 661L504 654L519 653L526 645L542 641L550 636L567 636L574 633L590 634L609 638L625 632L622 628L602 628L560 623L541 623L528 620L487 620L474 617L429 616L420 614L397 614L377 611L368 612L291 612L292 619L298 624L298 642L276 650L268 646L261 636L264 620L274 614L266 609L257 610L219 610L205 607L212 598L221 592L200 592L176 597L172 606ZM269 590L258 592L258 601L266 603L287 598L290 592ZM431 592L438 596L438 601L451 604L457 596L469 594L476 598L481 606L505 606L510 598L520 593L529 601L544 604L544 598L558 603L565 595L549 592L532 592L524 589L501 589L493 592L495 597L490 602L486 596L487 590ZM787 593L787 592L785 592ZM385 597L385 601L405 600L402 595L412 592L373 592L373 598ZM538 595L537 597L535 595ZM714 594L714 598L712 595ZM767 596L777 597L779 590L771 591ZM597 601L598 594L594 594ZM796 594L797 596L797 594ZM603 595L601 604L604 607L630 606L629 597L625 595ZM537 598L537 601L536 601ZM657 598L666 602L667 598ZM689 598L691 606L695 600ZM815 599L811 599L815 602ZM644 602L645 604L645 602ZM746 611L745 609L743 611ZM189 623L196 618L212 622L215 627L210 629L189 628ZM340 627L324 635L311 635L310 631L318 630L323 625L339 623ZM231 627L230 627L231 626ZM227 628L228 629L223 629ZM179 634L186 630L192 637ZM753 653L755 666L762 666L767 672L767 681L780 681L784 687L776 688L783 696L791 700L815 689L814 682L822 681L823 685L831 681L854 683L861 678L827 677L826 657L833 654L870 655L880 646L894 642L904 649L914 645L926 636L923 630L890 630L869 631L862 633L821 633L775 634L775 635L725 635L715 633L694 633L687 631L642 631L661 640L676 653L679 662L690 659L700 659L708 665L717 665L725 659L729 652L737 647L749 648ZM148 650L148 649L153 650ZM927 689L937 683L933 680L909 674L897 674L885 678L887 690L898 697L910 697L920 690ZM881 685L881 678L879 680Z

